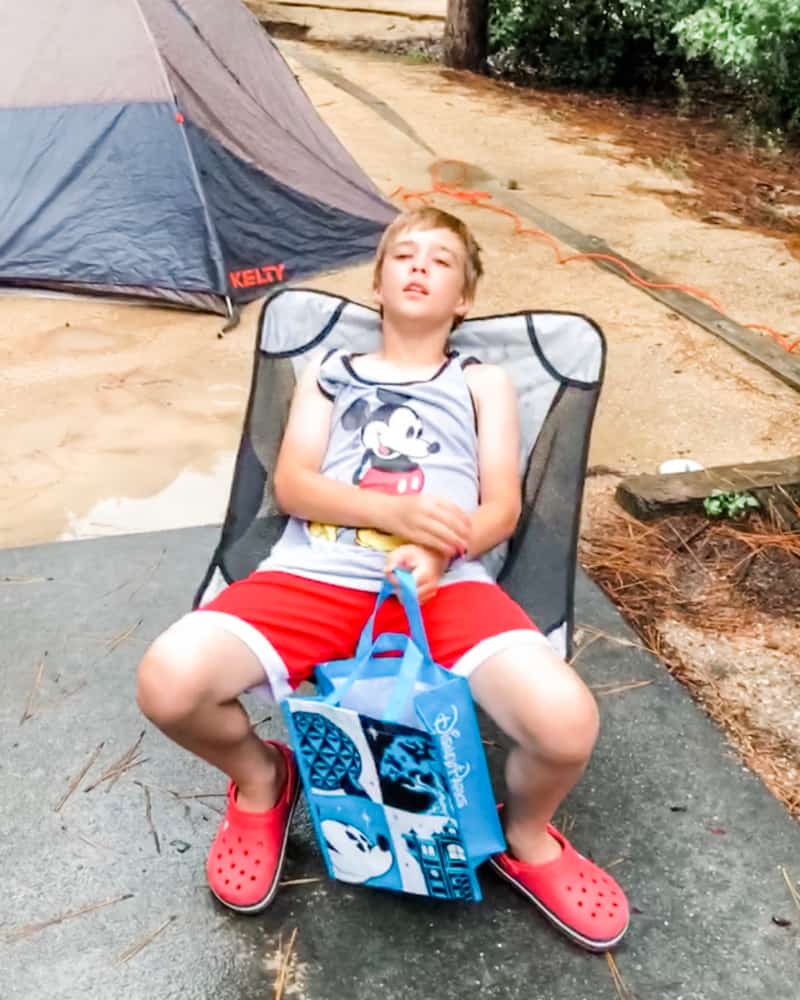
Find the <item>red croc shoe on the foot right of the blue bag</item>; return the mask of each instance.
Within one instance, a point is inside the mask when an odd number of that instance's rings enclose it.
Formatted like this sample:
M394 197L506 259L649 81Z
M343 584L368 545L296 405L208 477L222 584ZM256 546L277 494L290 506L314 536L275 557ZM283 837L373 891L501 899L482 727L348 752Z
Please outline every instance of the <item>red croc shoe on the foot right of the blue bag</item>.
M554 861L527 865L510 854L497 854L490 864L576 944L589 951L613 948L628 929L625 893L555 827L548 824L547 832L561 845Z

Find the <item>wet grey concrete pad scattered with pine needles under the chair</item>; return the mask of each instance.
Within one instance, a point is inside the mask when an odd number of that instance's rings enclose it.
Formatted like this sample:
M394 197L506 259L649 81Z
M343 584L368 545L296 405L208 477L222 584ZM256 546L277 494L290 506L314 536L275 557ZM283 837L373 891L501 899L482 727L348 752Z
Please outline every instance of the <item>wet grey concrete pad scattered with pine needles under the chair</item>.
M477 905L329 881L302 809L284 879L319 881L285 886L254 918L213 901L204 860L224 781L145 723L134 671L189 608L217 534L0 551L0 998L262 1000L295 929L286 998L618 996L603 956L562 940L489 872ZM584 642L596 629L632 638L582 577L577 620ZM784 872L796 885L800 828L649 654L600 638L576 667L612 693L559 820L629 893L615 955L627 987L638 1000L794 1000L800 911ZM631 680L652 683L613 693ZM248 707L262 735L284 732L278 711ZM142 731L134 766L87 791ZM485 736L502 794L505 741Z

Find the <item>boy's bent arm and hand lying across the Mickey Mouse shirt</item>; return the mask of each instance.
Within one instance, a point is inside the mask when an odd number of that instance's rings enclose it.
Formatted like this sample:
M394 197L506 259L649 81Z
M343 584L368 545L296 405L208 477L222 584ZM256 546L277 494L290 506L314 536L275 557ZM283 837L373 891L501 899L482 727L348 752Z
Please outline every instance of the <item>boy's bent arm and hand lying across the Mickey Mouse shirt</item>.
M292 399L273 482L280 509L306 521L376 528L447 555L463 548L469 521L450 501L362 490L320 472L333 412L317 385L320 363L309 361Z

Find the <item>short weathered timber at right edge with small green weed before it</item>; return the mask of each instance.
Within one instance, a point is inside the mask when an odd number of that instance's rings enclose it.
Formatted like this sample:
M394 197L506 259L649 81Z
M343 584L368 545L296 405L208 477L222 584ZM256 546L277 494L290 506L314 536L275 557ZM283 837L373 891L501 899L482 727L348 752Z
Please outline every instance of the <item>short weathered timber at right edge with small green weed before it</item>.
M702 512L713 490L752 493L776 524L800 530L800 456L775 462L719 465L698 472L642 474L617 486L618 503L640 521Z

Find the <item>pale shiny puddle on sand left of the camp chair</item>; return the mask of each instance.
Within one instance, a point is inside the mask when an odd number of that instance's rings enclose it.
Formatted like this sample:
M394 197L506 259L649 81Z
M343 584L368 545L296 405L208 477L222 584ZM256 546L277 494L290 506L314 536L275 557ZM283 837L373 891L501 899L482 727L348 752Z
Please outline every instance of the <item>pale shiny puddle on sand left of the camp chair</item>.
M184 469L149 497L100 500L81 517L70 511L58 541L218 524L225 515L235 459L230 451L217 458L210 472Z

